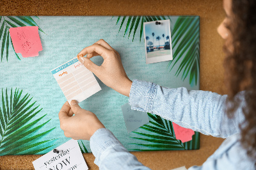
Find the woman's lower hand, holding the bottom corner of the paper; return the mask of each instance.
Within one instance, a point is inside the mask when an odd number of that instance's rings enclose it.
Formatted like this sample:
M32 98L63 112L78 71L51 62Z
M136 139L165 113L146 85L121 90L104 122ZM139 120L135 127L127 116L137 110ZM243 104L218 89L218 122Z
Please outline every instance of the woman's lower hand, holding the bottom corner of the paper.
M73 114L75 115L72 116ZM94 132L99 128L105 128L93 112L82 109L76 100L72 100L70 105L66 102L62 106L59 118L64 135L76 140L90 140Z

